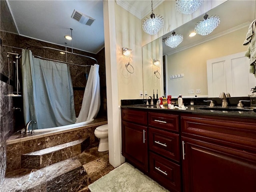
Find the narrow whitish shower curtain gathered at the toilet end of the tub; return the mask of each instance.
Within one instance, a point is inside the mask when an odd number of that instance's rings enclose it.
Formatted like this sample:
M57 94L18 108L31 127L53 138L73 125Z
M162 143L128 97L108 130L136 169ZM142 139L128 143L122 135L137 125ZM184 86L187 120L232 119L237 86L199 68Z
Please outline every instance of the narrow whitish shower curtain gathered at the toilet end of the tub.
M76 123L89 121L96 117L100 110L100 77L99 65L91 66L88 81L84 90L82 108Z

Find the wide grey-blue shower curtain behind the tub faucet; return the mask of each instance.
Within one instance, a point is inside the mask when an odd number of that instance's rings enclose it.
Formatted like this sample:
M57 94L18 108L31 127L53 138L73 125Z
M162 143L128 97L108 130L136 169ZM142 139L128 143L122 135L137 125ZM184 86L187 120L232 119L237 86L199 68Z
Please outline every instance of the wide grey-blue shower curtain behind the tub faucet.
M25 123L33 128L51 128L76 122L69 66L34 58L22 50L23 109Z

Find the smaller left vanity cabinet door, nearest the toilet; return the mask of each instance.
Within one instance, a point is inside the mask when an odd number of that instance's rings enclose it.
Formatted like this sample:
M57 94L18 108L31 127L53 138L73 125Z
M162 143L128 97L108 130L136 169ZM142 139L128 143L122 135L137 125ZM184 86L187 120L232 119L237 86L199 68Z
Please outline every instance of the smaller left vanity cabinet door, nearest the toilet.
M122 121L122 154L136 168L148 172L147 127Z

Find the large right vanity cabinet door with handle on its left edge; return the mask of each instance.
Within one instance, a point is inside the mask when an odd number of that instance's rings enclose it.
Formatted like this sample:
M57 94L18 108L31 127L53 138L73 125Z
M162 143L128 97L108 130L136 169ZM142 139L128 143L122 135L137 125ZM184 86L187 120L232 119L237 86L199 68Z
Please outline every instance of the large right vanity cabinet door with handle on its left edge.
M255 192L256 155L182 137L184 192Z

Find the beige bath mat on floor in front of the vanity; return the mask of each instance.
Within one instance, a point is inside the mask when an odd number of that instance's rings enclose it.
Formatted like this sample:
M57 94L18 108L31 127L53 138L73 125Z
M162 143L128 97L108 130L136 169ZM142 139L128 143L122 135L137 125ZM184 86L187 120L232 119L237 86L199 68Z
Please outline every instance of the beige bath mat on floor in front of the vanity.
M157 182L124 163L90 184L91 192L168 192Z

